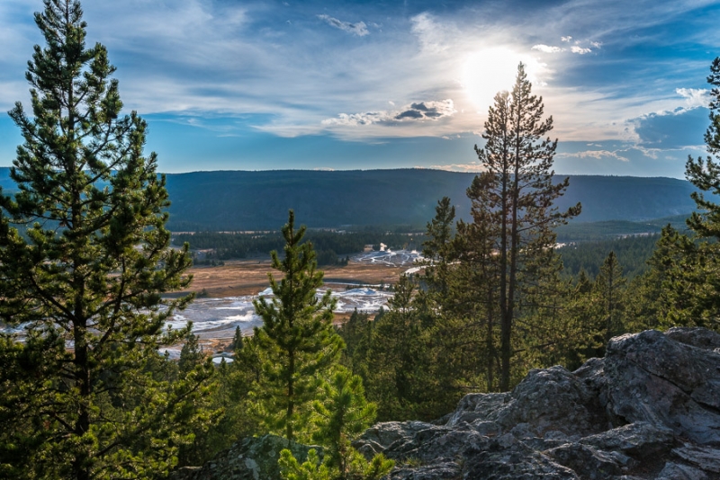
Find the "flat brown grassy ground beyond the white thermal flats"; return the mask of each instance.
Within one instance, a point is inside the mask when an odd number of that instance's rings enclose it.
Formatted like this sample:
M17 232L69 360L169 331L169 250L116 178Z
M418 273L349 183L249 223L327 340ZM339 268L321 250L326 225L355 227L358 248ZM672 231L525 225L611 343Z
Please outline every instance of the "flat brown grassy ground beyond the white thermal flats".
M345 267L321 267L325 272L325 286L330 289L344 289L347 284L385 285L394 284L408 267L390 267L378 263L349 262ZM202 292L206 298L257 295L270 286L267 272L280 280L278 271L273 270L269 259L236 260L225 262L220 267L193 267L190 273L193 282L185 290Z

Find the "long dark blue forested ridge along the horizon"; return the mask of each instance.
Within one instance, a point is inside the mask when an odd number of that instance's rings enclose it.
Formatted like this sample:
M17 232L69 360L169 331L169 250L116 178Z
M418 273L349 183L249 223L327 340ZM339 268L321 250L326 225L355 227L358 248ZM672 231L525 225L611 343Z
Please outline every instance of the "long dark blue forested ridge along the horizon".
M173 231L275 229L294 209L308 227L422 228L445 196L459 218L469 218L465 191L473 177L424 169L168 174L168 226ZM556 175L554 182L563 178ZM695 209L692 191L689 182L672 178L578 175L556 204L567 209L580 201L575 222L649 220L689 214Z

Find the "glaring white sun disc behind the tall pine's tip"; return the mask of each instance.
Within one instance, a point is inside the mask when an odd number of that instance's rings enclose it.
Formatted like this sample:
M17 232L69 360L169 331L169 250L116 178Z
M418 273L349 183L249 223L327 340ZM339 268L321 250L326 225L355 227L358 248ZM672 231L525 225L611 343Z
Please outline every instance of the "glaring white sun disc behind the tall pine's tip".
M478 113L487 113L495 94L511 90L518 74L518 64L525 64L528 79L536 83L536 72L540 65L535 58L517 52L495 47L482 49L470 54L462 72L462 83L467 99Z

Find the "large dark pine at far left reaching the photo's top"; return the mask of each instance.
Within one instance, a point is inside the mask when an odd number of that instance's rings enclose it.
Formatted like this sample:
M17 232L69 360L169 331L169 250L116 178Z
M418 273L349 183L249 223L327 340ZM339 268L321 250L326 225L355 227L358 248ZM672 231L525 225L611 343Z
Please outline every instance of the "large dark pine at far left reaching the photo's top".
M45 0L26 78L29 116L0 196L0 476L152 478L190 440L210 370L172 385L158 345L190 298L187 250L169 248L165 179L143 155L146 123L121 116L106 49L85 46L76 0ZM169 370L168 370L169 371Z

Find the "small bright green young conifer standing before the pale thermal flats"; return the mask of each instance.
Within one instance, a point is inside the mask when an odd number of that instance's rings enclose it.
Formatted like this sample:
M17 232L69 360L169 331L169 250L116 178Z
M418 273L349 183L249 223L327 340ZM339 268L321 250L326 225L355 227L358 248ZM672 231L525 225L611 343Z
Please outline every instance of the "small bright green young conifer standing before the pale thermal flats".
M268 273L274 297L254 303L263 326L255 329L263 351L261 386L256 391L258 407L267 431L294 440L308 425L311 402L344 347L332 326L335 301L328 290L316 297L322 286L312 244L302 243L305 227L295 229L290 210L283 227L284 258L271 252L273 268L284 274L277 281Z

